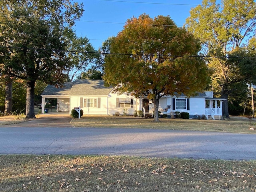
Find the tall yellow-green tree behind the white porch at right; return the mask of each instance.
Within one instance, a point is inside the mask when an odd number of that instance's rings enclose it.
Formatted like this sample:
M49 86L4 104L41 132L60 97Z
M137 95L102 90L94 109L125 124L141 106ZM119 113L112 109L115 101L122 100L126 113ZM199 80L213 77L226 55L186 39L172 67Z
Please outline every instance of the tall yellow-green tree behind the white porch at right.
M244 81L244 75L236 62L230 62L228 55L255 35L256 4L254 0L203 0L190 11L186 19L188 31L202 41L202 52L210 56L209 67L213 69L213 84L219 91L224 102L224 116L229 117L228 96L235 90L238 82Z

